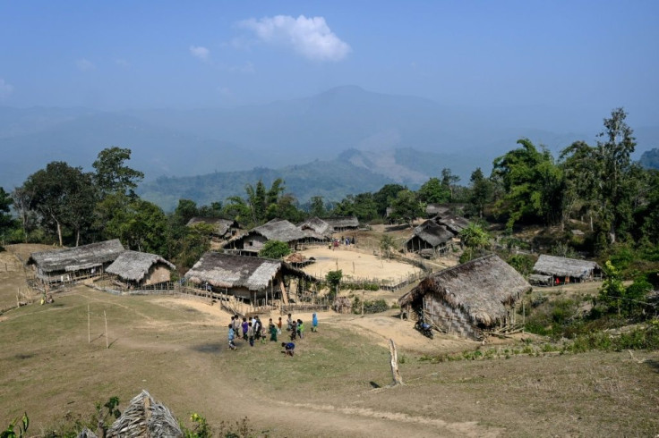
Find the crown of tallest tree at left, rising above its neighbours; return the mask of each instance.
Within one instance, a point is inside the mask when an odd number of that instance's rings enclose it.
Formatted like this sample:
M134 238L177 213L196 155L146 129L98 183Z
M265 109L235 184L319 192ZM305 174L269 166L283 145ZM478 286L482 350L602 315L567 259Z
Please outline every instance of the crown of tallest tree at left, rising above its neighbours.
M137 184L144 178L144 173L126 166L131 159L131 149L108 147L98 153L98 158L91 164L96 170L94 179L102 194L122 193L133 194Z

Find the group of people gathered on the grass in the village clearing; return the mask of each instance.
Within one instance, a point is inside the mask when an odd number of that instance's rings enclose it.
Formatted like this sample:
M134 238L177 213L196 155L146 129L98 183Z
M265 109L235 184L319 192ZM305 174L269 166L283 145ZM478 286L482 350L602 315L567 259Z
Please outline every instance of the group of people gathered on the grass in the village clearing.
M302 319L293 319L291 314L288 314L287 318L287 332L290 332L290 341L282 342L281 346L284 348L283 353L287 356L293 356L295 350L295 341L296 338L302 339L304 336L304 322ZM252 319L248 320L246 317L243 318L241 322L240 316L231 316L231 322L228 324L228 342L229 349L235 350L235 338L239 336L239 333L243 334L243 340L248 341L250 346L254 346L255 341L261 341L261 343L266 343L266 338L268 333L270 333L270 341L277 342L277 336L281 335L282 330L282 320L279 316L278 322L274 323L272 318L268 322L268 328L261 323L259 316L252 316ZM266 331L267 330L267 331ZM312 332L318 331L318 316L313 314L312 316Z

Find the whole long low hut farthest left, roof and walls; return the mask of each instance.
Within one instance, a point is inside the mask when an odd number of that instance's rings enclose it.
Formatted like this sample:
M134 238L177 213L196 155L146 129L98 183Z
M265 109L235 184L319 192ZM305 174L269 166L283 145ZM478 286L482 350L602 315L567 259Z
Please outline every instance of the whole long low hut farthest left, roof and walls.
M75 248L33 252L27 261L44 283L75 282L102 274L124 252L118 239Z

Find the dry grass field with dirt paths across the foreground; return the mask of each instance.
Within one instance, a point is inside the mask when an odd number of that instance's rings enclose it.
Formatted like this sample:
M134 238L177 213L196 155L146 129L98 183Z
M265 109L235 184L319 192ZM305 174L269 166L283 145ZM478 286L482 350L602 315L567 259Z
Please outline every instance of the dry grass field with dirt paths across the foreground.
M2 297L11 295L6 284ZM307 328L295 358L285 358L270 342L227 350L229 317L201 300L117 297L84 286L53 305L9 310L0 316L0 422L27 411L30 431L43 434L67 413L89 417L96 401L115 395L124 409L147 389L181 419L198 412L218 425L248 417L255 436L659 433L656 351L432 363L424 357L491 347L428 340L394 311L328 312L319 333ZM405 386L386 387L389 337Z

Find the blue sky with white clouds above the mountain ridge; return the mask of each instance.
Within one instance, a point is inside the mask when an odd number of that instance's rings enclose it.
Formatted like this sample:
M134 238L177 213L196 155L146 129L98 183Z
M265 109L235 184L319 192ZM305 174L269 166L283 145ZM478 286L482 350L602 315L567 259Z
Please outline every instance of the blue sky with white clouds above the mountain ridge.
M357 85L659 118L659 2L0 0L0 105L261 105Z

